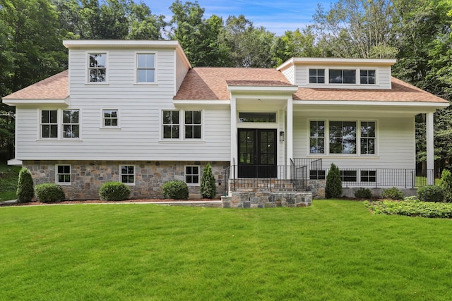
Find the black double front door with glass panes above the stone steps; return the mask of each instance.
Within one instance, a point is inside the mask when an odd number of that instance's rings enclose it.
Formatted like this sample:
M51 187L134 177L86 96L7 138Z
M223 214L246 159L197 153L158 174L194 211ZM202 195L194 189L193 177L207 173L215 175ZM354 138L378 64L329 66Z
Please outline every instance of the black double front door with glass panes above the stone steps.
M239 128L239 178L276 178L276 130Z

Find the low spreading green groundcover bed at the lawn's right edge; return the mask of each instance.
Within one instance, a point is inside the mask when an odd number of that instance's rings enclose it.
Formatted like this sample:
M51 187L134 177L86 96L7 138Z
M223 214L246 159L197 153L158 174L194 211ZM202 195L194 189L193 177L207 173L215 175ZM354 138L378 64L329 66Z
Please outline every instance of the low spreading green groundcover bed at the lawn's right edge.
M390 200L364 202L365 206L374 214L398 214L405 216L452 218L452 204L444 202L422 202L410 199L403 202Z

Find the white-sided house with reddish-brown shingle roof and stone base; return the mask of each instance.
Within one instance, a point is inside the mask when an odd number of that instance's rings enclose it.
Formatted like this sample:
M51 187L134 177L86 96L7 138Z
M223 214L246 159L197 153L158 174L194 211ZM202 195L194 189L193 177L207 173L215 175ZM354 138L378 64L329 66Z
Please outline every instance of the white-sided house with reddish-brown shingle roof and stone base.
M64 45L69 70L4 102L16 106L11 164L69 198L97 198L110 180L136 198L161 197L168 180L196 194L207 163L221 193L230 178L324 180L331 163L349 187L412 187L419 113L433 183L433 113L449 103L391 77L393 59L192 68L177 41Z

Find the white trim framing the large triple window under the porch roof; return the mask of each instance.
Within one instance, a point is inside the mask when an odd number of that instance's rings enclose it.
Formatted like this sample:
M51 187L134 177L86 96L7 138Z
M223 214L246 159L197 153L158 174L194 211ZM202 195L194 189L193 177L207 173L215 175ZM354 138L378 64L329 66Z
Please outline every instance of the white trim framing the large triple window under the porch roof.
M325 141L323 154L311 154L311 121L324 121L325 122ZM356 154L330 154L330 121L351 121L356 123ZM361 122L374 122L375 123L375 154L361 154ZM338 157L338 158L376 158L379 157L379 121L376 119L350 119L350 118L309 118L307 120L307 156L311 157Z

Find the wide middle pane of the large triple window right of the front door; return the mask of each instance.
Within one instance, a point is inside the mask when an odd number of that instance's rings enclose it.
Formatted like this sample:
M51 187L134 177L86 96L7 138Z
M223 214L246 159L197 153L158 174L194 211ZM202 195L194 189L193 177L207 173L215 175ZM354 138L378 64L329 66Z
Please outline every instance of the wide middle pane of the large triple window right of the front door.
M330 121L330 154L356 154L356 122Z

